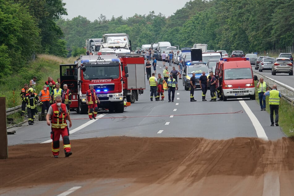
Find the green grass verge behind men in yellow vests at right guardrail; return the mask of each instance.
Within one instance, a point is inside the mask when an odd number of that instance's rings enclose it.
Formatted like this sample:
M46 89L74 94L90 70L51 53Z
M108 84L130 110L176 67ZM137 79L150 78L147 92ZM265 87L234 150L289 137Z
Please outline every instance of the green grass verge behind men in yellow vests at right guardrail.
M255 81L255 86L257 85L257 81ZM255 88L256 102L259 105L258 92ZM266 96L266 111L270 113L270 107L268 104L269 97ZM275 115L274 115L275 118ZM269 125L270 125L270 119ZM294 107L288 103L288 101L281 99L279 105L279 126L284 134L288 137L294 137Z

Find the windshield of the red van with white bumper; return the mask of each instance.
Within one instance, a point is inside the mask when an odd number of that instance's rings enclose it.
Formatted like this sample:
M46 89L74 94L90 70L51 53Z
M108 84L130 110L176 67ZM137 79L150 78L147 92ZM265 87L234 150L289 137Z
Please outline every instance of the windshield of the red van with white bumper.
M224 70L224 80L251 79L252 71L250 68L234 68Z

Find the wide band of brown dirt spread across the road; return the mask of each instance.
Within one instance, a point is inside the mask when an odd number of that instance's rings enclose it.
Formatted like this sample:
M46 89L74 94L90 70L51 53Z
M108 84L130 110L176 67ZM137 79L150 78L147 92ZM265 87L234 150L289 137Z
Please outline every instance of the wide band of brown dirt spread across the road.
M294 142L290 138L121 136L72 140L71 145L73 155L65 158L60 151L58 159L52 156L51 143L9 146L9 158L0 160L0 188L103 178L193 186L204 178L221 176L224 183L224 177L247 179L294 169Z

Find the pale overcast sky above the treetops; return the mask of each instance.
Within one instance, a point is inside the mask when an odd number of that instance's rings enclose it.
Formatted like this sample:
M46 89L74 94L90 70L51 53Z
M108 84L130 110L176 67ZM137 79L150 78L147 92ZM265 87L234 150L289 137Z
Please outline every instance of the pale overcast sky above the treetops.
M72 19L78 15L94 21L100 14L105 15L107 19L112 16L118 16L126 19L134 14L148 15L149 11L154 11L155 15L159 13L166 17L172 15L178 9L184 7L187 0L63 0L66 3L65 8L68 15L63 15L64 19Z

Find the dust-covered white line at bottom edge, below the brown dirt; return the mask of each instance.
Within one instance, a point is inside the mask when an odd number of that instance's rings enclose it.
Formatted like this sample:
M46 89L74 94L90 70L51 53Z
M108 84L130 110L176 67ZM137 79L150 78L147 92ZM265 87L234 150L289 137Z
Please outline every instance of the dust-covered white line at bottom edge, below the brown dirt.
M268 172L264 174L262 196L279 196L280 179L277 172Z

